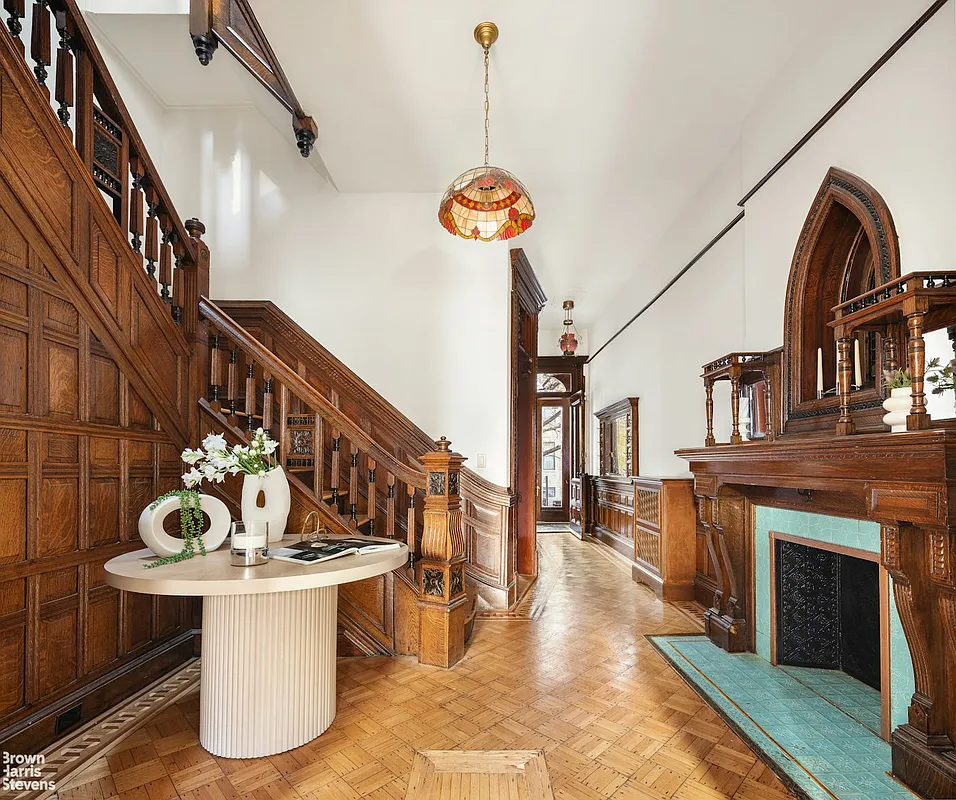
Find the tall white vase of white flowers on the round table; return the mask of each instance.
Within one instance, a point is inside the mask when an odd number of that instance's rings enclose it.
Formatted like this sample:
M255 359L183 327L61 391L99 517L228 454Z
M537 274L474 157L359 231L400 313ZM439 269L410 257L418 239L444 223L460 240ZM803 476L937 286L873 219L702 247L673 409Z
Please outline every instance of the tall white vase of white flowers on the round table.
M256 430L247 445L229 447L221 434L210 433L198 450L183 450L182 459L191 466L183 475L188 488L204 479L222 483L226 475L243 475L242 520L269 523L269 541L278 542L285 533L291 499L289 481L273 455L279 443L262 428ZM259 505L259 495L265 498Z

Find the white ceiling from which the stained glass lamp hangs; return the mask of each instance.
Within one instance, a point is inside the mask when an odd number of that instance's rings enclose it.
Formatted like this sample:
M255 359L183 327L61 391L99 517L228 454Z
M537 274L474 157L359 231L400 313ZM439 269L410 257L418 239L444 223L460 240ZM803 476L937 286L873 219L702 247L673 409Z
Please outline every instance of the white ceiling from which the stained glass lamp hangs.
M841 0L843 10L865 4ZM319 125L319 153L341 192L440 193L481 163L482 56L472 30L483 19L498 24L491 160L535 201L535 225L517 243L551 298L543 325L556 327L565 297L575 298L579 324L600 314L727 156L762 90L827 24L834 0L253 6ZM114 41L138 43L125 55L167 105L248 104L252 79L222 68L224 53L219 69L199 67L182 16L144 15L132 33L120 30L136 24L128 13L106 16L98 24ZM180 45L170 50L167 37Z

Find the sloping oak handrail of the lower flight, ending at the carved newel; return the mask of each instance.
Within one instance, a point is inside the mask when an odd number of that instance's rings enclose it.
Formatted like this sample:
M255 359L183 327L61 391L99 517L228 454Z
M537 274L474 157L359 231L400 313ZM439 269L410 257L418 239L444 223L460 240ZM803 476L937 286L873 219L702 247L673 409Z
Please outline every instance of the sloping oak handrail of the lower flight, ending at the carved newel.
M399 461L394 455L383 449L355 422L343 414L318 391L307 383L302 376L276 356L255 337L236 323L228 314L216 306L206 297L200 297L199 313L219 332L225 334L231 341L238 344L243 351L252 356L256 363L267 369L273 377L284 384L300 400L305 401L317 414L331 423L336 430L345 436L352 444L359 447L376 464L391 472L397 479L404 481L416 489L425 488L425 474Z

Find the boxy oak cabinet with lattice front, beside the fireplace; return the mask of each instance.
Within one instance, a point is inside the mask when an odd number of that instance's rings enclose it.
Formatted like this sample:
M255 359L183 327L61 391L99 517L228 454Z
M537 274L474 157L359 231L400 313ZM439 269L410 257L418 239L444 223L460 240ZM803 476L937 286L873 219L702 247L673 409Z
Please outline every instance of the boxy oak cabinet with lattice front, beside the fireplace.
M634 478L631 575L663 600L693 600L697 523L693 478Z

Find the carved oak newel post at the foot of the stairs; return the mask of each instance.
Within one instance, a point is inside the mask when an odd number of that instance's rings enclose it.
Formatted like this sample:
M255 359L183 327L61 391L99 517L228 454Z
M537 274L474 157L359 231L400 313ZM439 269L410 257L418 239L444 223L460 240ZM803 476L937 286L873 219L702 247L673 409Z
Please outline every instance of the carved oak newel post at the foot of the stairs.
M425 465L424 532L417 563L418 660L451 667L465 654L465 536L459 476L463 458L444 436L421 457Z

